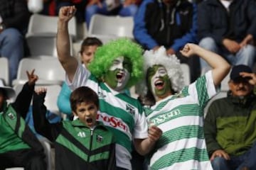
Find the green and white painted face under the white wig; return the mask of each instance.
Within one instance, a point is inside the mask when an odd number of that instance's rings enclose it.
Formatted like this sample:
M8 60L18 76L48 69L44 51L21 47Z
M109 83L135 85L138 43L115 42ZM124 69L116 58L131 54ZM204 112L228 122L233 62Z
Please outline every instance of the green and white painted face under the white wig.
M166 69L161 65L154 65L148 71L148 84L151 93L156 97L165 97L171 94L171 81Z

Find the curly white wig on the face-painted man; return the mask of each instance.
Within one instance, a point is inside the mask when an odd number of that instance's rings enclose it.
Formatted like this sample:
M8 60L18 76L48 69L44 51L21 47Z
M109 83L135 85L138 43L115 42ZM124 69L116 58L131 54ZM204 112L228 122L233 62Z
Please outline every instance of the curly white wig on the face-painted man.
M180 60L176 55L166 55L166 49L161 46L158 50L146 50L144 52L144 72L146 73L150 67L154 65L161 65L165 67L168 77L171 81L171 89L178 92L184 87L183 72L181 70ZM146 78L144 82L140 84L139 94L145 95L148 93L148 89L145 86ZM144 85L143 85L144 84Z

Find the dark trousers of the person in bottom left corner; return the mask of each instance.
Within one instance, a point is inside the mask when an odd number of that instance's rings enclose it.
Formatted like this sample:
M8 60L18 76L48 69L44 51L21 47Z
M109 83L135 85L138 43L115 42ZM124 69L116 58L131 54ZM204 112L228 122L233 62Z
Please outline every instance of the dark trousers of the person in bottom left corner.
M32 149L19 149L0 154L0 170L11 167L23 167L25 170L46 170L44 154Z

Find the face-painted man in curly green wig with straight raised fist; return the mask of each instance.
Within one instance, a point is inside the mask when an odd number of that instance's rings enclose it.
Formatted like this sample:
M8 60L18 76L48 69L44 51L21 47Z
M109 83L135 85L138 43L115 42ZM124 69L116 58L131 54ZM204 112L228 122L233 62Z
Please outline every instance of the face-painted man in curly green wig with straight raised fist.
M100 100L97 120L104 123L117 138L117 170L132 169L132 142L139 154L147 154L161 136L156 126L148 127L139 101L124 94L143 76L142 47L127 38L113 40L98 47L88 69L70 56L68 21L74 6L60 8L58 19L58 59L66 72L70 89L89 86ZM89 71L90 70L90 71Z

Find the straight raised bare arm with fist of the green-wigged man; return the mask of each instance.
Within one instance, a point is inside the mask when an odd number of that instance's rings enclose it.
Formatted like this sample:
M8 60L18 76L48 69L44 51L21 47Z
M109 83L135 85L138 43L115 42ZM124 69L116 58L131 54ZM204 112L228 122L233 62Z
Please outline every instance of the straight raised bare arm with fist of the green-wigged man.
M70 81L73 81L78 61L70 55L70 35L68 34L68 21L75 15L75 6L63 6L58 16L57 52L58 59L65 69Z

